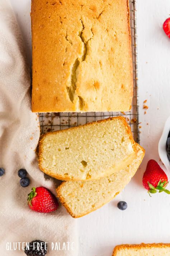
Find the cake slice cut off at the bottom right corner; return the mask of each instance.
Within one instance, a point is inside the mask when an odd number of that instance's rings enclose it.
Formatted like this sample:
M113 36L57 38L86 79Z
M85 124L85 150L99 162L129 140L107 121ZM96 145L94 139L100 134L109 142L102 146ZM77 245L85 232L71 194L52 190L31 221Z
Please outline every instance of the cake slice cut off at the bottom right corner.
M170 256L170 243L122 244L114 248L112 256Z

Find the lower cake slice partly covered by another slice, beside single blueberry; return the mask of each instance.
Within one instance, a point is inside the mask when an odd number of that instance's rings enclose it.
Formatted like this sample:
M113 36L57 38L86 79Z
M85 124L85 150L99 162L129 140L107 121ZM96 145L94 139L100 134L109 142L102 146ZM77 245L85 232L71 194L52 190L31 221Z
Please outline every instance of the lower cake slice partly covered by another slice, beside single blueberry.
M64 181L57 196L72 217L78 218L95 211L112 200L129 183L137 171L145 151L137 144L138 153L126 168L99 180Z

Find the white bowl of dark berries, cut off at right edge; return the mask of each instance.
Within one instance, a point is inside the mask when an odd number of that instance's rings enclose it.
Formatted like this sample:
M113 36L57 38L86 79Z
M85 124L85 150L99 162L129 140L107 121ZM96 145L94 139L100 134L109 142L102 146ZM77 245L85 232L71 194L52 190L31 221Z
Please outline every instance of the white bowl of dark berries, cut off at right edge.
M165 165L168 171L170 171L170 162L167 158L167 153L166 153L166 141L167 141L167 136L169 134L169 131L170 131L170 117L166 120L164 130L162 132L162 136L158 144L159 156L161 158L162 163Z

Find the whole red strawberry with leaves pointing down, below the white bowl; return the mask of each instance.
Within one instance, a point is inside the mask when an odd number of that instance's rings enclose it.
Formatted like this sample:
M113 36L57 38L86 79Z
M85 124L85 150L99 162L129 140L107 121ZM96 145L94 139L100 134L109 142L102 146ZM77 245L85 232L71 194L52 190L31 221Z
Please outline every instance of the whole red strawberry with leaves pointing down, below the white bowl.
M165 172L155 160L149 160L146 171L143 174L143 186L148 190L149 195L157 191L159 191L159 193L164 191L170 194L170 191L165 189L167 184L168 179Z

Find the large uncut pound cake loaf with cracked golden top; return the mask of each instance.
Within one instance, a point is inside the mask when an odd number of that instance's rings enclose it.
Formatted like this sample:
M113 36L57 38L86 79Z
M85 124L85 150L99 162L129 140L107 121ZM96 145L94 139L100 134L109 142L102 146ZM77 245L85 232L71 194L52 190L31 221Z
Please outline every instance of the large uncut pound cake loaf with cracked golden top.
M32 0L32 111L128 111L128 0Z

